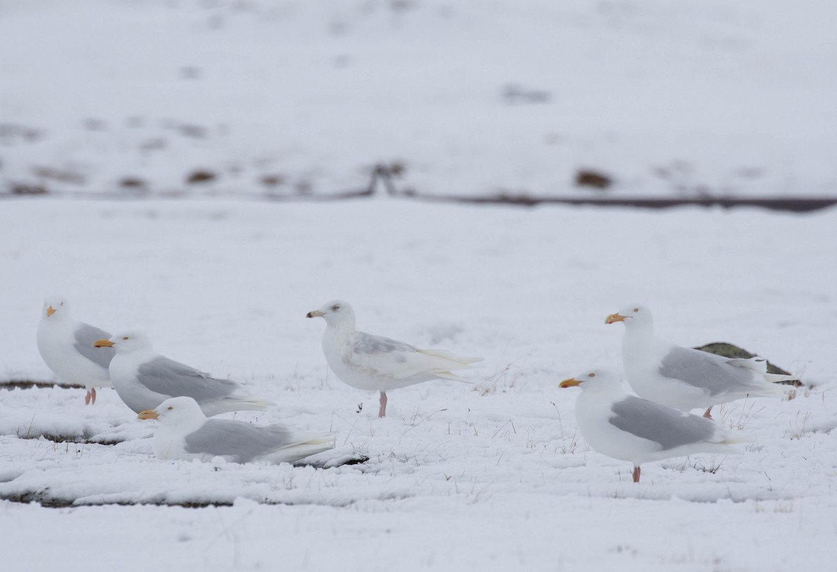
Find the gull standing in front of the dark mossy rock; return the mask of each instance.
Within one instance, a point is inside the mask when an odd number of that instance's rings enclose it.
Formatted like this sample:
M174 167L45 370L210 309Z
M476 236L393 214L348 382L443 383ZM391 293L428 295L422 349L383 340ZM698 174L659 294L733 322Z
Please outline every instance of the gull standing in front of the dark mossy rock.
M654 335L654 319L642 304L631 304L610 314L605 324L625 324L622 360L628 383L637 395L691 411L747 396L782 396L777 381L796 380L793 375L768 374L768 363L760 357L730 359L701 350L684 348Z

